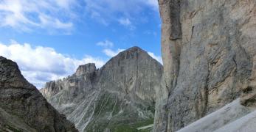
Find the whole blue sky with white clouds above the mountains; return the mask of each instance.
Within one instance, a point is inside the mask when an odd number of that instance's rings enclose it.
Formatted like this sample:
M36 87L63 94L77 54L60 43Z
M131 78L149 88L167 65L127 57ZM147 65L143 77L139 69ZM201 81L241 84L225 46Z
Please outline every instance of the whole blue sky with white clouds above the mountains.
M0 56L38 89L132 46L162 63L157 0L0 0Z

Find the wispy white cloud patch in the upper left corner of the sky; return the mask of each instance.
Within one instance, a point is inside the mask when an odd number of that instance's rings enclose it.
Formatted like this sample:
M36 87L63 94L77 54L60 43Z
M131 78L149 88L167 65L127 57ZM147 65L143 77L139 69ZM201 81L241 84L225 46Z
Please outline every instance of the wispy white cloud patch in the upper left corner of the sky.
M75 18L72 8L76 0L1 0L0 26L9 26L22 32L35 28L70 32ZM65 21L63 21L65 20Z

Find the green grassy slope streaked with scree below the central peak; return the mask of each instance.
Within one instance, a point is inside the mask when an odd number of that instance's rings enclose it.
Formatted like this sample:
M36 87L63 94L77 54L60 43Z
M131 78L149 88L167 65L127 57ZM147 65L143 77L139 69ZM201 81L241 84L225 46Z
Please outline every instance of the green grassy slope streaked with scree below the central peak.
M153 118L142 119L134 109L122 103L116 94L103 92L99 95L97 105L94 109L94 118L89 122L85 131L105 131L108 128L111 132L149 132L152 128L137 130L153 124ZM122 113L119 113L122 108ZM153 107L145 109L153 111Z

